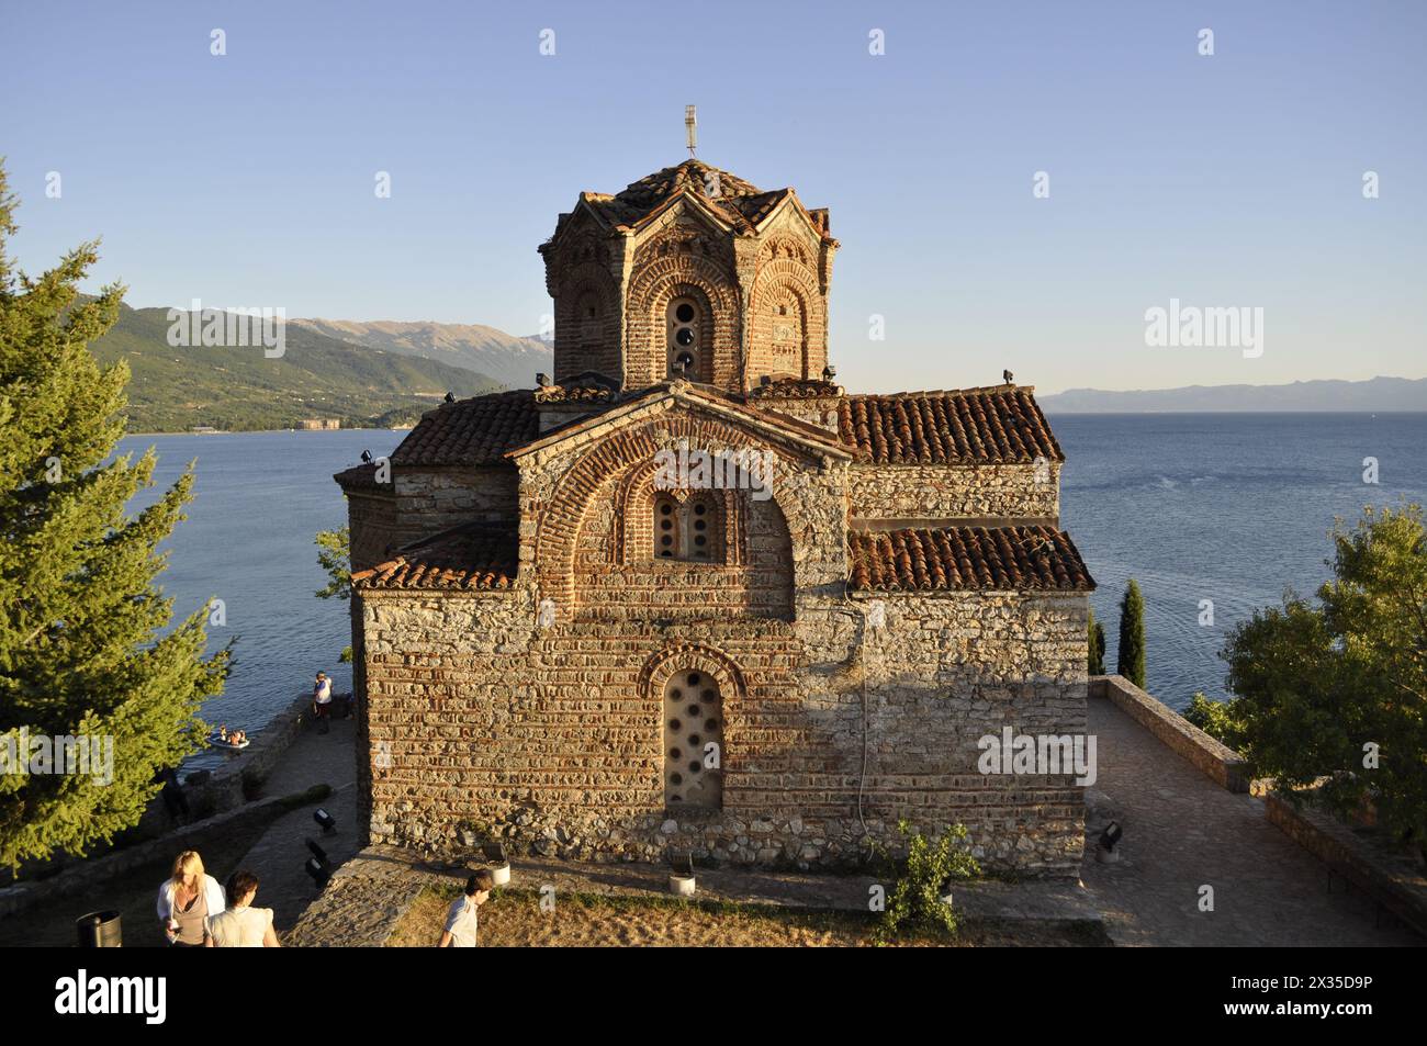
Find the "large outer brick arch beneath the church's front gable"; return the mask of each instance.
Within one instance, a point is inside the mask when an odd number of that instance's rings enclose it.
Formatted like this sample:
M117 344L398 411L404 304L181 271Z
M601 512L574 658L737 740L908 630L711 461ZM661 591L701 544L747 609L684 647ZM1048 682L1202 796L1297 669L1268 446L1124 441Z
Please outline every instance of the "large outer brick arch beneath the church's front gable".
M557 481L549 492L548 507L539 517L535 532L537 599L549 598L557 606L575 606L575 551L579 531L599 488L611 477L652 464L658 451L668 450L679 438L689 440L694 447L752 442L748 434L733 425L688 411L662 414L596 442ZM786 451L769 450L781 459L789 458ZM775 482L772 501L783 514L789 535L803 532L808 521L802 507L793 498L779 497L779 488L781 484Z

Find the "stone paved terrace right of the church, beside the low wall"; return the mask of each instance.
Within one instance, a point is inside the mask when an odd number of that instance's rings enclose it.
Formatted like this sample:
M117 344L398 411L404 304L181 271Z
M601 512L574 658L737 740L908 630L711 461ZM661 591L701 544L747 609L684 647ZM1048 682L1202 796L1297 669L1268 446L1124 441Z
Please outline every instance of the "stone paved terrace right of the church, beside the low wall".
M1421 945L1327 866L1270 825L1263 801L1214 785L1112 702L1090 699L1099 779L1086 796L1087 835L1109 821L1122 859L1087 856L1092 900L1117 945ZM1093 846L1087 843L1087 852ZM1214 910L1199 910L1199 888Z

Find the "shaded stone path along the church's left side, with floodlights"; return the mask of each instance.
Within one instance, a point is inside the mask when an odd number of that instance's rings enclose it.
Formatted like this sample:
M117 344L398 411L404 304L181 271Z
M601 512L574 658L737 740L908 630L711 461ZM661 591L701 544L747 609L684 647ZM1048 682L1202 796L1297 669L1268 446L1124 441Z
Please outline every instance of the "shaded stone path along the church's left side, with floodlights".
M293 926L320 892L304 868L310 856L305 841L317 842L332 868L357 852L355 726L355 719L337 719L325 735L315 725L305 728L263 785L264 795L293 795L327 783L332 795L320 805L337 819L337 831L324 835L313 821L318 803L301 806L274 821L240 862L258 876L257 905L273 909L280 932Z

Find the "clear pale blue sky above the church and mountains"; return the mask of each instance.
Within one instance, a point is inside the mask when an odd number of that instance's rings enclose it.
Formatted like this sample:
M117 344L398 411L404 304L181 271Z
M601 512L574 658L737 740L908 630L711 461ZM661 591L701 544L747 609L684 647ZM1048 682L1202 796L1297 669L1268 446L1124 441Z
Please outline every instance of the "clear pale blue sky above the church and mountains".
M529 334L557 214L685 158L695 103L699 158L831 208L849 388L1418 378L1424 37L1418 0L0 0L11 254L103 235L138 307ZM1170 298L1261 307L1263 354L1146 345Z

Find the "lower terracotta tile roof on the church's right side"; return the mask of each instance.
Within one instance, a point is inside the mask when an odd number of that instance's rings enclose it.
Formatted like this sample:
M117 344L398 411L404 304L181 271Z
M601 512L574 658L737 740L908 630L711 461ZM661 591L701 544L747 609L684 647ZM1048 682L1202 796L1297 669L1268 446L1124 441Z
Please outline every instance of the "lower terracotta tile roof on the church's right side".
M860 592L1090 592L1095 579L1053 527L849 531L852 588Z

